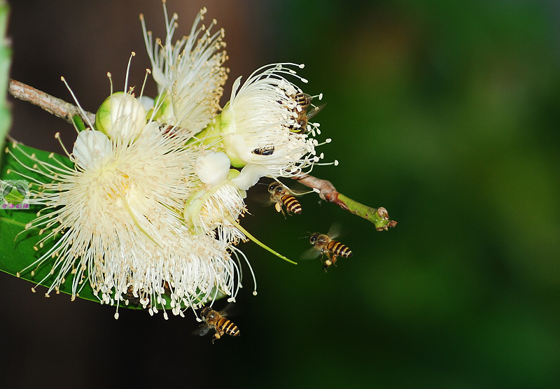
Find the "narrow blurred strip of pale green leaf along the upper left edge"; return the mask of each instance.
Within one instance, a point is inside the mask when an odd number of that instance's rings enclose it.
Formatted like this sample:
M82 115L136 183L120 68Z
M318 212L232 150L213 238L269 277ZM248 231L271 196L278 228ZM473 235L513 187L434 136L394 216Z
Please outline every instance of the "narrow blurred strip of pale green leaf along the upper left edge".
M9 11L10 8L6 1L0 1L0 34L2 37L0 38L0 91L3 93L0 95L0 145L3 145L11 123L10 111L6 106L5 91L8 90L8 72L10 71L10 57L12 51L8 47L8 39L4 37L8 25Z

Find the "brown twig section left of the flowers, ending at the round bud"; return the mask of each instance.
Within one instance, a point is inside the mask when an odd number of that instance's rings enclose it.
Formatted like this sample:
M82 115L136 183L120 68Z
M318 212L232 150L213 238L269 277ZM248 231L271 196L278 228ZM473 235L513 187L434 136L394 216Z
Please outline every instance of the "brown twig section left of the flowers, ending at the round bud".
M77 106L45 92L41 92L20 81L10 79L8 83L8 92L16 99L29 101L31 104L43 108L48 113L52 113L52 115L66 120L66 122L71 123L73 116L76 115L80 116L86 123L95 122L94 113L80 111Z

